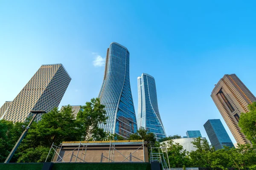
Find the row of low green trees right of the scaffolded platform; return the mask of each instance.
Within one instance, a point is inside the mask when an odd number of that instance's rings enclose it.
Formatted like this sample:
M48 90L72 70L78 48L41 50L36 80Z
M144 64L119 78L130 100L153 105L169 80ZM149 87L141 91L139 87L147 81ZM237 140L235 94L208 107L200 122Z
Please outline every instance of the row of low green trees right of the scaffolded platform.
M238 170L250 168L255 170L256 149L250 144L238 144L238 147L224 147L215 150L206 139L196 138L191 142L196 150L187 152L183 147L172 140L163 142L162 147L167 147L170 167L206 167L209 169L227 169L233 167ZM165 150L162 150L166 153ZM167 157L164 154L166 161Z

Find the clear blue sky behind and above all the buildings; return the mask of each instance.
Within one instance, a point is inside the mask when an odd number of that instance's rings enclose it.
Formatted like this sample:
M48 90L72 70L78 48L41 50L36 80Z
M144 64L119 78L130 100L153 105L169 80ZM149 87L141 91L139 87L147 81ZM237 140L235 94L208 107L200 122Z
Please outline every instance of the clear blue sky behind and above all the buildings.
M235 73L256 94L255 1L0 0L0 105L13 100L42 64L62 63L72 80L61 105L97 97L111 42L130 51L137 77L156 80L167 135L221 119L210 94ZM97 60L97 62L94 62ZM103 62L102 62L103 61Z

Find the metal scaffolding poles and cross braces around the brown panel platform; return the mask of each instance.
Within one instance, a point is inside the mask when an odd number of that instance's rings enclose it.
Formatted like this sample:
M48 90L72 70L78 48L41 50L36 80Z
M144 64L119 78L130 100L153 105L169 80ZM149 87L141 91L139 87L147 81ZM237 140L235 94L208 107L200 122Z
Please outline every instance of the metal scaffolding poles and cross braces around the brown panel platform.
M120 143L120 142L119 142ZM118 144L119 144L118 143ZM125 143L125 142L124 142ZM126 142L127 143L127 142ZM51 160L51 162L55 162L55 163L58 163L58 162L65 162L63 159L66 157L66 156L68 156L70 153L73 153L75 150L77 150L77 154L76 154L76 159L75 159L75 161L69 161L69 162L86 162L86 161L84 161L84 159L86 158L86 151L87 151L87 146L89 146L89 145L95 145L95 144L99 144L99 145L102 145L102 144L107 144L107 143L86 143L86 144L84 144L84 143L81 143L81 141L80 141L80 143L79 143L79 145L78 145L78 147L76 147L75 149L73 149L72 151L70 151L69 153L67 153L67 154L64 154L62 157L60 156L60 153L61 153L61 149L63 149L62 148L62 144L61 144L61 146L60 147L58 147L58 146L56 146L56 145L54 145L54 143L52 143L52 146L51 146L51 148L50 148L50 150L49 150L49 153L48 153L48 155L47 155L47 158L46 158L46 160L45 160L45 162L47 161L47 159L48 159L48 157L49 157L49 155L50 155L50 153L51 153L51 150L54 150L54 155L52 156L52 160L53 160L53 158L55 157L55 156L57 156L57 158L56 158L56 161L52 161ZM142 143L141 143L141 145L136 149L136 150L134 150L134 152L133 153L131 153L131 154L129 154L128 156L125 156L125 155L123 155L121 152L119 152L119 150L117 150L116 149L116 142L112 142L111 143L111 141L110 141L110 143L109 143L109 154L108 154L108 157L105 157L106 159L108 159L108 162L123 162L123 161L125 161L125 160L128 160L129 162L134 162L134 161L130 161L128 158L130 157L130 156L132 156L137 150L139 150L141 147L143 147L143 160L142 161L138 161L138 162L145 162L145 142L144 142L144 140L142 140ZM76 145L77 145L77 143L76 143ZM58 150L58 149L59 150ZM58 151L57 151L58 150ZM80 154L80 157L79 157L79 151L81 150L81 154ZM114 161L114 156L115 156L115 151L116 152L118 152L119 154L121 154L123 157L124 157L124 159L122 160L122 161ZM79 161L77 161L77 159L79 158Z

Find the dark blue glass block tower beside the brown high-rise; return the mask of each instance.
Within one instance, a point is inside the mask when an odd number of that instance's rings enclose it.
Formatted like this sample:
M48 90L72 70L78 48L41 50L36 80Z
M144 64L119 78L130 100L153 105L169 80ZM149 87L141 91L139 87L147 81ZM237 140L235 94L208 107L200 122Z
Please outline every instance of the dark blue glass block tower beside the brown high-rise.
M223 149L223 146L234 147L220 119L210 119L204 124L204 129L215 149Z

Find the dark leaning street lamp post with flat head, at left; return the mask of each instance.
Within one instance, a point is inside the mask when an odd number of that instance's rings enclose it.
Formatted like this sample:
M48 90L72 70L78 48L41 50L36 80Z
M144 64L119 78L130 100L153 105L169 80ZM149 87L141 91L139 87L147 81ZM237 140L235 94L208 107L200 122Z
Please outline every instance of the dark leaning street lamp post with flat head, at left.
M12 151L10 152L9 156L6 158L4 163L9 163L9 161L12 159L12 156L15 153L15 151L17 150L17 148L19 147L22 139L26 136L26 133L28 133L29 126L32 124L32 122L34 121L35 117L38 114L46 113L46 111L30 111L30 112L33 113L34 115L33 115L32 119L30 120L29 125L26 127L26 129L21 134L20 139L16 142L15 146L12 148Z

